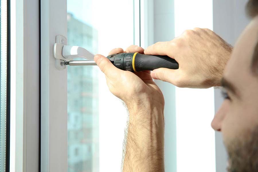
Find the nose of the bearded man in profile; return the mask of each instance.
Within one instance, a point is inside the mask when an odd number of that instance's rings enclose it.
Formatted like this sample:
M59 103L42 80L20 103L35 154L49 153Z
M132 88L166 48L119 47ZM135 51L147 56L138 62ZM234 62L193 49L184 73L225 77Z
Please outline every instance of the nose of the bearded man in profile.
M220 109L218 110L218 112L215 114L211 126L214 130L216 131L221 131L221 126L222 126L222 122L226 116L227 113L227 103L224 101L222 103L222 105L220 106Z

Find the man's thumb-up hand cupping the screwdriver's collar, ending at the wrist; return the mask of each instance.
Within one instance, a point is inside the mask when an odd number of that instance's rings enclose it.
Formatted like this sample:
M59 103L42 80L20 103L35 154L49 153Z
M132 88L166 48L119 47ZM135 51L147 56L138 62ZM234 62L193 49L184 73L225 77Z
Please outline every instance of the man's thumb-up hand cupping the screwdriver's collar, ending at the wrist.
M130 46L125 52L143 53L143 51L141 47ZM122 52L124 52L122 48L116 48L109 55ZM156 102L157 104L164 105L163 94L150 76L150 71L132 73L120 70L110 60L100 54L97 54L94 60L105 74L110 91L116 97L122 99L128 109L136 105L135 103L143 105L145 102Z

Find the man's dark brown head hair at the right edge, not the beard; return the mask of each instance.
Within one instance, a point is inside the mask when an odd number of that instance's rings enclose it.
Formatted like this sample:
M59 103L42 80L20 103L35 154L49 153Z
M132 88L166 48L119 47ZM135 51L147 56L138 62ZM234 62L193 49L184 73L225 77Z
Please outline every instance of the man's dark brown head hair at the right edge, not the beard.
M258 15L258 0L249 0L246 4L246 13L250 17L256 17ZM253 52L253 59L252 59L252 71L254 74L258 74L258 42L255 46L254 52Z

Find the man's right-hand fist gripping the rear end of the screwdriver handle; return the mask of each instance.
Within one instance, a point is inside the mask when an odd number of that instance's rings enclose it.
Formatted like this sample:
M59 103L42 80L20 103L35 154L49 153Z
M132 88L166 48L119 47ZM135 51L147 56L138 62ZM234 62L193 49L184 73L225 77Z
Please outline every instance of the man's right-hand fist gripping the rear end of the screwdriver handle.
M151 76L177 87L209 88L220 80L232 46L209 29L194 28L169 42L157 42L145 54L167 55L179 63L179 69L155 69Z

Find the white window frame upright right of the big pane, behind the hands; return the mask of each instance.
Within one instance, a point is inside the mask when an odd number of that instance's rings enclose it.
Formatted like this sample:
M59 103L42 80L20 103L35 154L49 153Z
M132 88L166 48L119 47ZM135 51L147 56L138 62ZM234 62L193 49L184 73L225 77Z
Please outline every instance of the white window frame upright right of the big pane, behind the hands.
M173 9L174 1L161 0L140 0L140 42L143 48L155 44L159 41L169 41L174 37L174 13L164 7L171 5ZM163 17L164 23L159 17ZM167 33L167 31L170 31ZM165 34L164 34L165 33ZM160 80L154 80L161 89L164 99L164 119L169 124L165 127L165 171L177 171L177 133L176 133L176 110L175 108L175 86ZM169 105L167 105L169 104ZM168 161L169 160L169 161Z

